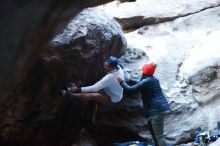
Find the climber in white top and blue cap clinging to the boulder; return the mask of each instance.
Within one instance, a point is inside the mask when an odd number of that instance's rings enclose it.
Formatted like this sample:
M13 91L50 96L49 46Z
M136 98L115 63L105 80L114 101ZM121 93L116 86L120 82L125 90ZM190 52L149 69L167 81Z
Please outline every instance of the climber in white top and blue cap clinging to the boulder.
M124 79L124 72L119 66L118 58L109 56L104 62L104 69L107 73L101 80L92 86L77 87L72 86L67 90L62 90L63 96L73 96L86 101L98 101L101 104L117 103L123 96L123 88L120 86L117 78ZM95 121L96 110L92 115L92 121Z

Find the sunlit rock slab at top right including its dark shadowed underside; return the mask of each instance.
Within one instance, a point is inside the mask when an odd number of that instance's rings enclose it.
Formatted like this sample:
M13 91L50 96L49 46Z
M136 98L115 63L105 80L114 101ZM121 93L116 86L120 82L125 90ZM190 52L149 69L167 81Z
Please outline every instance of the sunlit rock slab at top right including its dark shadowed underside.
M195 14L219 5L219 0L138 0L123 4L114 1L99 8L116 17L123 30L132 31L146 25L173 21L176 18Z

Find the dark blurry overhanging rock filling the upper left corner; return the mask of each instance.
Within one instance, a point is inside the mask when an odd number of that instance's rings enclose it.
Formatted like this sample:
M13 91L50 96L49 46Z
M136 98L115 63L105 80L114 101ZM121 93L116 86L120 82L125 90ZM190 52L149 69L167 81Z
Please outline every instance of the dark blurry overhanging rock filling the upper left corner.
M0 5L0 92L22 81L39 54L79 10L112 0L4 0Z

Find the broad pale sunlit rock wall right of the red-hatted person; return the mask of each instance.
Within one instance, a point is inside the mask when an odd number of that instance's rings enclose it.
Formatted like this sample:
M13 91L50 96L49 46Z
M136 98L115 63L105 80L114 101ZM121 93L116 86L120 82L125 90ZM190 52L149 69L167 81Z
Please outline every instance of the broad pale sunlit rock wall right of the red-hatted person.
M157 75L172 108L166 124L167 138L176 143L193 141L199 127L213 129L219 120L215 112L219 110L220 56L215 45L219 10L213 8L145 29L146 38L154 36L149 42L161 42L148 43L151 49L157 49L146 51L160 64ZM161 54L157 56L159 50Z

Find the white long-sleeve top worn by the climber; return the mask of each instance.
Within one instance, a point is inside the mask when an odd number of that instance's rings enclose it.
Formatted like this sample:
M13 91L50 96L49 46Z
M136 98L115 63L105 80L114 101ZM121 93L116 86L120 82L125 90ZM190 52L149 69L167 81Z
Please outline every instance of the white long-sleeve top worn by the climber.
M117 103L121 101L123 96L123 88L117 81L117 77L124 80L124 72L121 67L111 71L94 85L81 87L81 92L98 92L103 89L104 92L110 96L111 101Z

